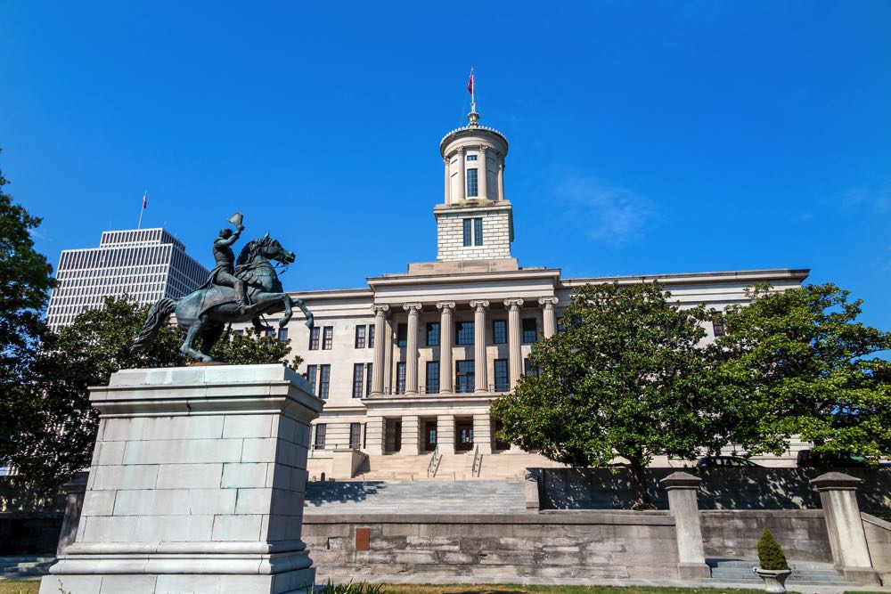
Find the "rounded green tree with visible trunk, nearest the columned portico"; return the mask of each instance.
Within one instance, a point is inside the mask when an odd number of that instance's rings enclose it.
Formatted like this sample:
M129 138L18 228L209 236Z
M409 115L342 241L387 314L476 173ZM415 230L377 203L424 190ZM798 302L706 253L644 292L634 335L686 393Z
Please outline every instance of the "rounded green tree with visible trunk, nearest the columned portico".
M658 283L577 289L566 330L535 345L537 375L493 404L500 437L576 467L627 460L649 507L645 468L654 456L691 459L711 438L702 306L682 310Z

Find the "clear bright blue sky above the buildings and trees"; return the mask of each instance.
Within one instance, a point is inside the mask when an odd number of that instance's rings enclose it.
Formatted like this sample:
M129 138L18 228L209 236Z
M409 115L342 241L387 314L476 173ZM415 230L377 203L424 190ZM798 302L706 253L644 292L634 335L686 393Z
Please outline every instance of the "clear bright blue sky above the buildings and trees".
M287 289L436 257L477 71L514 256L568 276L808 267L891 330L891 3L0 5L0 168L37 248L235 210ZM469 5L468 5L469 6Z

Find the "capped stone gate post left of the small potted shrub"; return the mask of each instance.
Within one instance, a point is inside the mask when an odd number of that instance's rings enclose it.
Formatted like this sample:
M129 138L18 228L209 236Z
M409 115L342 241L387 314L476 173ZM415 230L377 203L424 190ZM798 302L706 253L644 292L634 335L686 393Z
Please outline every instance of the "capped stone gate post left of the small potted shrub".
M674 472L661 481L668 492L668 509L674 516L677 538L677 574L681 580L711 577L702 547L702 525L699 522L699 503L696 492L701 479L686 472Z

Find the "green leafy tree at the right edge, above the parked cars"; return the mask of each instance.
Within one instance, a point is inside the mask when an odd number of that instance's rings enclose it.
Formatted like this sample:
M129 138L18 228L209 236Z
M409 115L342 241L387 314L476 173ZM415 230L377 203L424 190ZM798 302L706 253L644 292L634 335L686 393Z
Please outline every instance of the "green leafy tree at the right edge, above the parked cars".
M856 321L861 300L833 284L748 289L725 313L716 383L735 411L723 434L752 452L784 451L792 435L816 452L878 463L891 445L891 335Z

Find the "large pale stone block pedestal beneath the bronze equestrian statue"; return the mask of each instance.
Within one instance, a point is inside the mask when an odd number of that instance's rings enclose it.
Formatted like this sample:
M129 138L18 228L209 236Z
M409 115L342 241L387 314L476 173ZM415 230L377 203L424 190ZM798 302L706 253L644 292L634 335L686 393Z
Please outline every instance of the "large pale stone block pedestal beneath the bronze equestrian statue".
M102 413L73 544L42 593L306 591L309 423L283 365L122 370Z

